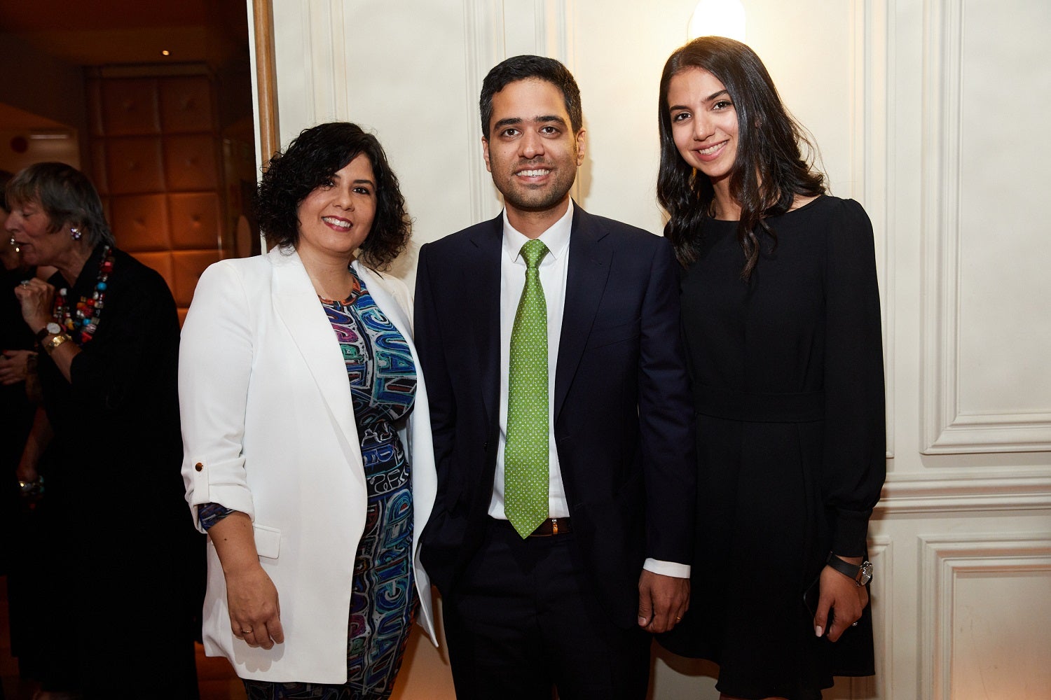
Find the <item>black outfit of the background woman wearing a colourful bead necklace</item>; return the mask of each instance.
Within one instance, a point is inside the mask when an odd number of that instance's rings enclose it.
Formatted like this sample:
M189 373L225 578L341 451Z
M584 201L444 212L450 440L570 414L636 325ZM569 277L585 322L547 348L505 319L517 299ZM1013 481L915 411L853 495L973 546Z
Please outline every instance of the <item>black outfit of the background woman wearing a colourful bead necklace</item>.
M179 318L164 279L114 250L104 306L71 381L46 354L39 374L48 447L45 550L53 648L45 687L85 698L198 697L204 539L179 474ZM98 291L96 248L67 298ZM57 273L48 280L66 285ZM114 673L119 669L120 673Z

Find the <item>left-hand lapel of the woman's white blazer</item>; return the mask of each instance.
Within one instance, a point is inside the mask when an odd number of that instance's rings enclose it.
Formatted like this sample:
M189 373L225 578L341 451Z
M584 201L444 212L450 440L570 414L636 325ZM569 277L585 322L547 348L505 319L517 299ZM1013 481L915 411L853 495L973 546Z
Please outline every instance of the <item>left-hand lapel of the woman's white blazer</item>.
M347 367L310 277L294 251L286 255L274 248L267 255L273 262L273 307L288 327L333 421L348 443L357 445Z

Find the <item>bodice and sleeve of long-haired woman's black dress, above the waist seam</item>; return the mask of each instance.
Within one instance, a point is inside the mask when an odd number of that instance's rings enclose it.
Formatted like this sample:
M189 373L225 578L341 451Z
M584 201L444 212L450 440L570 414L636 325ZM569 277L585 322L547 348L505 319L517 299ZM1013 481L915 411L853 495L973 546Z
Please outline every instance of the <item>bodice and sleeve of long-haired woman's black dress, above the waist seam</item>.
M691 377L748 395L822 394L821 490L832 551L864 551L885 475L883 345L872 228L852 199L822 196L769 220L778 245L745 283L737 221L712 220L682 280ZM722 391L720 391L720 395ZM715 403L727 401L715 399ZM802 399L805 401L805 399ZM710 410L708 412L712 412Z

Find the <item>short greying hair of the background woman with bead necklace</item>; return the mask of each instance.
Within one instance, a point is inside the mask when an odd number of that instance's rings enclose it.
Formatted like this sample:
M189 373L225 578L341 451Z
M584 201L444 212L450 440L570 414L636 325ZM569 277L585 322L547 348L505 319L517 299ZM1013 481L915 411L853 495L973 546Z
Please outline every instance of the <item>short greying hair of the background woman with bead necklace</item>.
M99 192L87 175L70 165L34 163L11 178L4 197L8 207L39 204L47 215L48 233L68 225L80 229L92 248L100 242L114 243Z

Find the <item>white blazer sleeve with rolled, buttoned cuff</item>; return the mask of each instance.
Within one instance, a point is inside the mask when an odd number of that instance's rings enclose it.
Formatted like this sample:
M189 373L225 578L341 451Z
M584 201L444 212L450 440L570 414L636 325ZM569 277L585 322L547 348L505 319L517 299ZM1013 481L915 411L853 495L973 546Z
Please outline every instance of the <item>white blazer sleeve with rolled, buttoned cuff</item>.
M183 482L199 529L203 504L254 514L242 448L253 341L240 276L211 266L193 294L179 357Z

